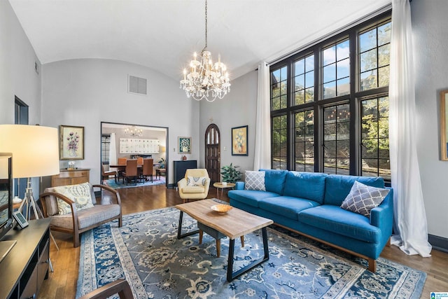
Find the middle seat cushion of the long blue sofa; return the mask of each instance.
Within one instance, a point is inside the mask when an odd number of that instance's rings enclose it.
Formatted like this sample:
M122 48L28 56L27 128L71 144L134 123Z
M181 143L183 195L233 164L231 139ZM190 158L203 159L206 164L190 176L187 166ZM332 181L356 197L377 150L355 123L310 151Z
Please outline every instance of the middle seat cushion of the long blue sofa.
M303 198L291 196L278 196L263 198L258 202L258 207L266 211L270 211L281 216L285 216L297 220L298 212L317 207L319 204L313 200L305 200Z

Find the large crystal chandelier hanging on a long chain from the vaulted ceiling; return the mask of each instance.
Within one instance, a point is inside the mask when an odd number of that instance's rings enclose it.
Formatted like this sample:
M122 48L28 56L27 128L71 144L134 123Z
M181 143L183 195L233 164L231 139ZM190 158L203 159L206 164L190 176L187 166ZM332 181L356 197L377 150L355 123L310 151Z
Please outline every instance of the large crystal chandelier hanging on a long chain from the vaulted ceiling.
M207 51L207 0L205 0L205 47L202 49L200 61L197 60L196 53L193 57L190 70L183 69L180 88L186 91L187 97L193 97L197 101L207 99L213 102L216 98L222 99L230 92L230 79L225 64L221 62L221 55L218 55L218 62L214 64L211 53Z

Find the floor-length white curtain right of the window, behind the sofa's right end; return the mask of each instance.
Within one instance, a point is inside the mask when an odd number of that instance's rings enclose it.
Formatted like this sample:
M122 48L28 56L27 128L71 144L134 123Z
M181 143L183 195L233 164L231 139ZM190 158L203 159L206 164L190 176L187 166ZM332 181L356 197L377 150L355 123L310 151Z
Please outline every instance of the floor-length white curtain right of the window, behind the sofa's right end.
M392 1L389 141L394 195L392 244L407 254L430 256L428 225L416 153L415 87L409 0Z

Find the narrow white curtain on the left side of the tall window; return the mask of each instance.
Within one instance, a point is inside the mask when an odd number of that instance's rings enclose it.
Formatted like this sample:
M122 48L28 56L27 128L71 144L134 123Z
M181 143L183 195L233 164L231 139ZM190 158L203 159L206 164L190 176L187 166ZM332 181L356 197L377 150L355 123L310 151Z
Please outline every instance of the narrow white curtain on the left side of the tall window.
M271 119L269 109L269 65L258 65L257 120L253 169L271 168Z

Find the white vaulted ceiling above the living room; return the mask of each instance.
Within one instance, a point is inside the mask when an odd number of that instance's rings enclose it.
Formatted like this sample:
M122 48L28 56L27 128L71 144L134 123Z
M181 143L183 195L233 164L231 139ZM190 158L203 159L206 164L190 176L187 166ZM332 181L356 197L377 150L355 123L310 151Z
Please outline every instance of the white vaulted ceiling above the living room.
M42 64L123 60L176 80L204 48L204 0L9 0ZM391 0L209 0L208 49L231 78Z

